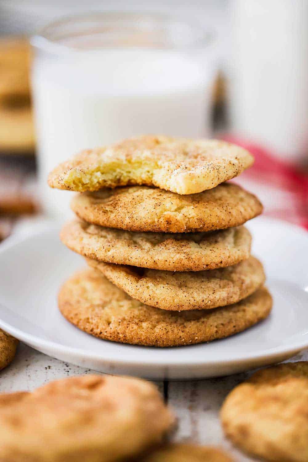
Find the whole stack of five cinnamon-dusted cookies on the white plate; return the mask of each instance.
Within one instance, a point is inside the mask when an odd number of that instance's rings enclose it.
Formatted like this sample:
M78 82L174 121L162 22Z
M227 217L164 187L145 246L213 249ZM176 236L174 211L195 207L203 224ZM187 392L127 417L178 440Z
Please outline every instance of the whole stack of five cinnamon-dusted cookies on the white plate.
M265 319L272 298L243 226L262 205L226 182L253 160L223 141L141 136L56 167L49 185L81 193L60 237L89 266L62 286L63 316L146 346L220 339Z

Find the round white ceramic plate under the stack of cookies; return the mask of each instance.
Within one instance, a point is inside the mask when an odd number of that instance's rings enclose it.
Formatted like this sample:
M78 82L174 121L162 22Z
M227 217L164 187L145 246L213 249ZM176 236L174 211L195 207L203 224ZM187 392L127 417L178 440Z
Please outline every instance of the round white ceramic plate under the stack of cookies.
M274 306L259 325L228 339L173 348L99 340L67 322L57 292L82 257L64 247L59 229L11 237L0 245L0 327L37 350L97 371L152 379L232 374L279 362L308 347L308 233L258 218L248 227L264 262Z

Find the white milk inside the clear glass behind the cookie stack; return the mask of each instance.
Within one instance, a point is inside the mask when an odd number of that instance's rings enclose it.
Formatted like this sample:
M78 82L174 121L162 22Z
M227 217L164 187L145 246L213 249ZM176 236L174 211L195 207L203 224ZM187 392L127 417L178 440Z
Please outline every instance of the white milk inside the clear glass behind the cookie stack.
M48 188L48 173L76 152L139 134L200 137L210 126L213 69L199 54L67 44L36 50L32 70L41 199L51 215L67 215L73 193Z

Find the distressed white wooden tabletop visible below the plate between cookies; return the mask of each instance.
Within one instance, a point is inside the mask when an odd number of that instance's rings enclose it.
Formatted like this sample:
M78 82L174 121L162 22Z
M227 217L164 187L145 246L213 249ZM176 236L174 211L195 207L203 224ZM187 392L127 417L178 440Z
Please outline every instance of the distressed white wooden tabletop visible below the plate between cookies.
M308 360L308 350L290 359L298 360ZM20 343L12 364L0 372L0 392L33 390L51 380L89 373L93 371L50 358ZM219 422L219 409L225 396L247 376L242 373L191 382L157 382L178 417L178 428L172 438L220 446L238 462L255 460L232 448L223 438Z

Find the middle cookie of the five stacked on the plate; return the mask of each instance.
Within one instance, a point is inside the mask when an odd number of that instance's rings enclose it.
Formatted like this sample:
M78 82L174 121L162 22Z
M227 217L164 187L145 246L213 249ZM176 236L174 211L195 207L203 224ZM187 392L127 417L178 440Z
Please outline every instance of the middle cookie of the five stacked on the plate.
M154 233L122 231L73 220L61 233L71 250L108 263L166 271L201 271L235 265L250 255L243 226L222 231Z

